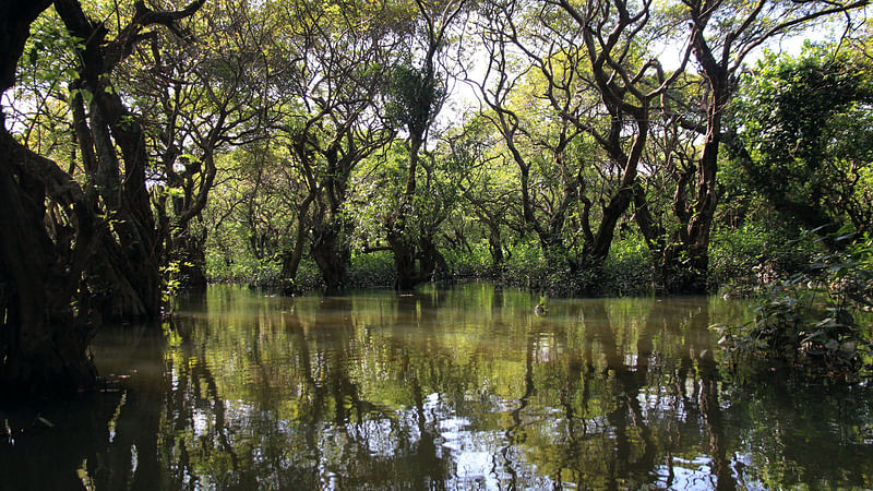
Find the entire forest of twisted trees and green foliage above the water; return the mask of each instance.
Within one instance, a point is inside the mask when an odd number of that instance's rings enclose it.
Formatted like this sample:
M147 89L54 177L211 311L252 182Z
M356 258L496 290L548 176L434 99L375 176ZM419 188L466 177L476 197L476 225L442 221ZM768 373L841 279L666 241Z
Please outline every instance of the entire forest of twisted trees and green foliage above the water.
M869 372L865 9L4 0L0 386L94 388L207 284L463 278L756 297L730 356Z

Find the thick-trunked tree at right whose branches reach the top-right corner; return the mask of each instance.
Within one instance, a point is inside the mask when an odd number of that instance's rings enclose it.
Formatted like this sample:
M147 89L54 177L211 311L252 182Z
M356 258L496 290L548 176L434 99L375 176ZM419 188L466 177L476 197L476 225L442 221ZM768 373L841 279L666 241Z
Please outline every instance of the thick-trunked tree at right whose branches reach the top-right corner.
M768 40L790 35L816 20L849 12L866 4L847 2L781 2L757 0L741 3L722 0L683 0L678 20L687 21L691 50L699 70L701 93L684 104L666 103L668 120L675 118L694 143L684 157L693 166L672 172L675 182L672 213L678 224L666 233L650 224L645 199L639 196L636 218L649 246L660 255L660 283L669 292L702 292L707 288L709 239L718 205L718 161L723 120L736 93L745 59ZM701 101L699 107L697 101ZM677 112L675 103L684 110ZM674 146L679 148L680 146ZM659 251L659 252L658 252Z

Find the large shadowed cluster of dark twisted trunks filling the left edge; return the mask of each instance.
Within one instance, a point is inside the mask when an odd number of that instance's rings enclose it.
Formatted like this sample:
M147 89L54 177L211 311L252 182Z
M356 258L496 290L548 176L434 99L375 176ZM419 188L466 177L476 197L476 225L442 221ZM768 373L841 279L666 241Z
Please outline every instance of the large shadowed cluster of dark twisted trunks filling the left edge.
M55 5L76 38L81 61L71 100L82 108L85 97L91 98L89 128L81 119L75 124L92 180L80 184L55 161L19 143L5 128L4 117L0 121L0 205L4 209L0 218L0 380L11 392L32 395L94 385L95 370L85 348L103 312L158 313L159 271L152 249L142 131L112 91L109 75L142 39L144 28L171 25L200 8L195 2L180 11L153 11L136 3L130 23L107 40L105 26L92 23L79 2L58 0ZM49 2L3 5L0 91L13 85L29 26L48 7ZM107 214L109 219L105 219ZM120 277L122 272L128 276ZM111 299L100 291L107 283L116 288Z

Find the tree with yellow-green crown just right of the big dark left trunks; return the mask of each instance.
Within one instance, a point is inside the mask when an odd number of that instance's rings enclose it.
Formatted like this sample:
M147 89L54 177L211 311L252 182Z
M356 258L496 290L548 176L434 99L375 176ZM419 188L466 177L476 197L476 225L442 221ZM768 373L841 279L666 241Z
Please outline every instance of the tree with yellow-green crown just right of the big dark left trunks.
M117 87L133 98L152 163L160 263L190 287L206 286L207 228L192 224L214 187L216 154L263 137L267 25L249 2L210 3L181 39L154 33L120 68Z

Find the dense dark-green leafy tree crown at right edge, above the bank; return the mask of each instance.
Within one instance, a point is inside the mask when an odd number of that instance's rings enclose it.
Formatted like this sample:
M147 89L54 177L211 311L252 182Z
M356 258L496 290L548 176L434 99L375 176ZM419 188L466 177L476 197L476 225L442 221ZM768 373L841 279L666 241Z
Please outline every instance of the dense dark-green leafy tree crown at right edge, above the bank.
M729 148L752 187L830 248L849 243L833 240L845 226L857 237L870 231L870 67L808 46L798 58L765 56L740 84Z

